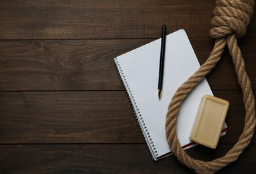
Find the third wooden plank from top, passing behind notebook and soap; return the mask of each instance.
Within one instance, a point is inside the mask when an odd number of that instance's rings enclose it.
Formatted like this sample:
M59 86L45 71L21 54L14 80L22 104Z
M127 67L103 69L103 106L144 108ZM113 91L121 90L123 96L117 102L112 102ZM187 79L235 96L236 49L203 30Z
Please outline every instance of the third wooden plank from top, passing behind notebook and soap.
M241 91L214 95L231 103L220 143L236 143L245 115ZM0 92L0 120L0 144L145 143L124 91Z

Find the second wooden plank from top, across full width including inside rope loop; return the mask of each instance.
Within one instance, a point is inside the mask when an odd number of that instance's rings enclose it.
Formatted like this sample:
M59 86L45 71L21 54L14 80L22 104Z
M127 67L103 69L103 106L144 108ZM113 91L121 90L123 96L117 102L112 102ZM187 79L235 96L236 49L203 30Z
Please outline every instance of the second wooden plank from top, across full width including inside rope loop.
M247 74L256 89L255 37L239 40ZM153 39L0 41L0 90L124 90L113 58ZM190 39L200 64L214 41ZM226 51L207 76L213 90L240 89Z

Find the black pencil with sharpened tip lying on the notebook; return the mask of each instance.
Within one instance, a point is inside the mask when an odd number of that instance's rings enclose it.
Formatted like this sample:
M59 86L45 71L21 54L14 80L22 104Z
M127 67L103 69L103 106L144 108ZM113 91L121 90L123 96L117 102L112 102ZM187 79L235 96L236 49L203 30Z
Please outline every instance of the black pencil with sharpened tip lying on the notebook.
M164 52L166 48L166 25L162 29L161 53L159 63L159 77L158 77L158 98L162 96L163 78L164 78Z

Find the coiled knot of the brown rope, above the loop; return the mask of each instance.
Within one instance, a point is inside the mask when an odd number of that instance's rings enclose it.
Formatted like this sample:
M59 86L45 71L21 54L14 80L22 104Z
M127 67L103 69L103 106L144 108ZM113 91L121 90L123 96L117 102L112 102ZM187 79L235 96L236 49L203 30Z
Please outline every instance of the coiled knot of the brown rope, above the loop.
M253 0L217 0L210 37L217 39L231 33L235 33L237 38L243 37L251 21L253 7Z

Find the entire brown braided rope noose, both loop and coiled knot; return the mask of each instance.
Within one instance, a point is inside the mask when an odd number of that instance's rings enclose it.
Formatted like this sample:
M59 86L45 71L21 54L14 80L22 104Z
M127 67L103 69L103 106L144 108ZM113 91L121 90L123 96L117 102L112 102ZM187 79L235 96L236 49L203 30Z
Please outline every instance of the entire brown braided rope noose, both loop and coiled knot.
M210 36L214 39L214 48L206 62L190 78L178 88L168 107L166 114L166 135L172 153L184 165L194 169L197 173L214 173L222 167L236 161L239 155L251 142L255 130L255 99L251 90L251 83L245 71L245 63L241 50L237 46L237 37L243 37L246 34L246 27L253 15L254 1L251 0L217 0L212 18L212 29ZM216 65L225 49L233 58L235 70L239 84L243 92L243 102L245 104L245 127L242 135L234 147L223 157L213 161L200 161L190 157L180 146L176 132L176 122L178 112L182 102L192 89L208 74Z

